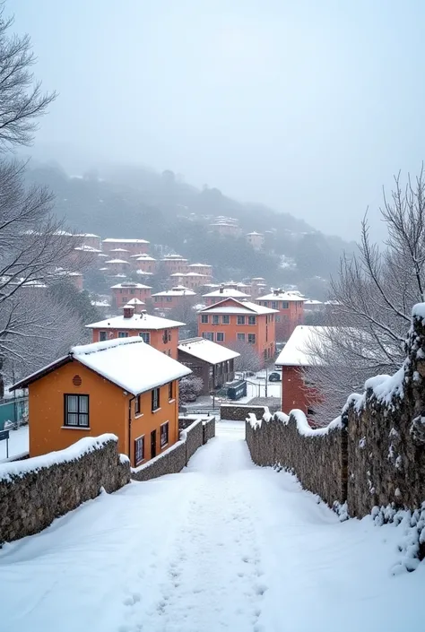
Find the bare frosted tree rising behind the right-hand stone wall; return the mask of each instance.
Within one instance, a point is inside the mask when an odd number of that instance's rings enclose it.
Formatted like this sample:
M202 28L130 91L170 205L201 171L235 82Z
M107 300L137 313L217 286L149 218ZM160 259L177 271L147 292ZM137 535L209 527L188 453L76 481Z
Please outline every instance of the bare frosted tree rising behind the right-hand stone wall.
M343 257L332 281L333 326L321 328L309 344L316 359L308 369L323 396L317 421L339 414L347 396L364 381L393 373L404 357L412 306L425 298L425 176L412 182L395 177L395 189L380 209L387 235L384 247L373 243L369 223L361 223L358 252Z

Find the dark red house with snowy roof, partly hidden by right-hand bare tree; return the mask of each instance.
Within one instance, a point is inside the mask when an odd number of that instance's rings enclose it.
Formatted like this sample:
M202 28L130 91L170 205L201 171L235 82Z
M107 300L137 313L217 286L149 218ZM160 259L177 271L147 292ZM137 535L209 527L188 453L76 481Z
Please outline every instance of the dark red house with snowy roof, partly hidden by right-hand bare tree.
M314 407L320 395L314 385L308 384L308 367L317 360L308 351L308 343L320 335L323 327L299 325L291 334L276 359L276 367L282 367L282 411L303 411L308 418L314 417Z

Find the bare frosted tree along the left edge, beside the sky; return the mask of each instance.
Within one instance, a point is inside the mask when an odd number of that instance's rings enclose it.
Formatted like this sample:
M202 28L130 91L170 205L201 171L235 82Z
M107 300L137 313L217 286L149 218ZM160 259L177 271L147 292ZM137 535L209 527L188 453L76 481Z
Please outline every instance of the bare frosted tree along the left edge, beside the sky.
M12 25L0 4L0 397L4 370L31 370L52 359L66 332L75 340L79 323L39 292L73 270L78 244L56 221L48 190L27 188L25 165L7 158L14 147L30 144L56 97L41 91L31 73L30 38L14 35Z

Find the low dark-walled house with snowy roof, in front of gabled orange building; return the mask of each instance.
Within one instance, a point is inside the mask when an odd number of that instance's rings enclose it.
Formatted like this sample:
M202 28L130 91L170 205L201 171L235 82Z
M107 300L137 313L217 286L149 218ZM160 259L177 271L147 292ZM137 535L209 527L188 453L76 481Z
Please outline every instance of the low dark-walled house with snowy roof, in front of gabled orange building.
M235 378L234 360L239 353L205 338L189 338L178 343L178 361L204 382L203 395L211 394Z

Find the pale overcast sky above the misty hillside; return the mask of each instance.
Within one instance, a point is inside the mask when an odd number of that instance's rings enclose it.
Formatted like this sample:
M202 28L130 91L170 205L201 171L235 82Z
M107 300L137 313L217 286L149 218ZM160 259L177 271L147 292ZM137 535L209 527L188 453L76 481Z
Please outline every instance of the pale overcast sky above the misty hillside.
M357 238L424 152L421 0L9 0L37 143L172 169Z

